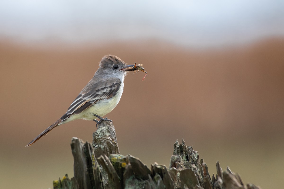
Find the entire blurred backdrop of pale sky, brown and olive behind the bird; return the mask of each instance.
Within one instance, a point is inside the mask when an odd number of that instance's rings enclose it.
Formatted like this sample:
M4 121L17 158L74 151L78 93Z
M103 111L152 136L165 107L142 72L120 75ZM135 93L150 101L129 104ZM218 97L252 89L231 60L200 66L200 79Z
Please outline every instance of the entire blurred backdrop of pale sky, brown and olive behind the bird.
M73 176L72 137L57 127L107 54L143 64L107 117L120 152L169 166L176 139L245 183L282 188L284 1L1 1L0 188L52 188Z

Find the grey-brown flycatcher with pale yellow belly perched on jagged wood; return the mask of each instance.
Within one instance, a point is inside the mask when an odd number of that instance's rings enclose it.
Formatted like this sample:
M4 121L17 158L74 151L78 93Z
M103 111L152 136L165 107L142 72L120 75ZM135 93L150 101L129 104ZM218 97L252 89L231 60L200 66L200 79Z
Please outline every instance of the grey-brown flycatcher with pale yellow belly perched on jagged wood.
M26 146L31 146L53 128L76 119L93 120L97 124L102 120L112 122L102 117L112 111L118 104L123 92L123 81L127 71L136 70L126 68L133 66L126 65L117 56L104 56L99 63L99 69L72 102L67 112ZM100 120L97 121L97 118Z

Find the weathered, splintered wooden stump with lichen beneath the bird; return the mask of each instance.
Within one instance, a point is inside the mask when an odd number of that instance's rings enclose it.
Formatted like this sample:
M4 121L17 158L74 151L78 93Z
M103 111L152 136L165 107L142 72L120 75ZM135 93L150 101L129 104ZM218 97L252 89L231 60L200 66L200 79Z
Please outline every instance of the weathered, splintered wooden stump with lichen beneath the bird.
M241 177L229 167L222 171L216 162L217 174L210 177L208 167L192 146L182 139L174 143L170 167L154 163L151 168L141 160L122 156L113 124L101 122L93 133L93 143L72 138L74 178L66 174L53 181L54 189L260 189L254 184L243 184Z

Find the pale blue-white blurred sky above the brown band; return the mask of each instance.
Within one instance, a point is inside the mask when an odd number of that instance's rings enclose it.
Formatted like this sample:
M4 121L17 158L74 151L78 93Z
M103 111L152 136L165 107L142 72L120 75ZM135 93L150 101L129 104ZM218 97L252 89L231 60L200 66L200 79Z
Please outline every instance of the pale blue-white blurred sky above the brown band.
M191 47L284 36L284 1L2 0L0 37L71 42L162 39Z

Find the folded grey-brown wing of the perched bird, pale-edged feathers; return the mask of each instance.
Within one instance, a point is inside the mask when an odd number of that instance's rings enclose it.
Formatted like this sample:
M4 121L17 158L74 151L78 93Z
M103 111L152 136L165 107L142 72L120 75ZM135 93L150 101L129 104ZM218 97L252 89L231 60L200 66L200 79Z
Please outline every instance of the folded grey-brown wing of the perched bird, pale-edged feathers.
M121 80L118 78L108 78L98 82L91 80L72 102L66 114L64 114L61 119L65 119L71 114L80 114L99 99L109 99L113 97L120 88L120 85Z

